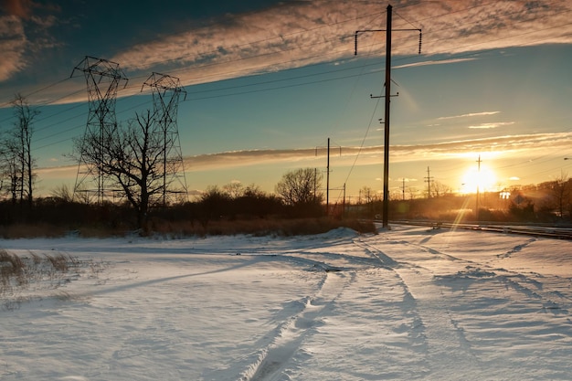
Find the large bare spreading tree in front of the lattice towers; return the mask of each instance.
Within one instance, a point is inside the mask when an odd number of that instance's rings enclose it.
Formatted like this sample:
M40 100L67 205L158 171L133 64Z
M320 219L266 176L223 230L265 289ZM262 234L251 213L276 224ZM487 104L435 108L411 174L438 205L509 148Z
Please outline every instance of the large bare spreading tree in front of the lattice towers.
M119 188L135 209L137 224L143 229L150 207L161 204L164 189L170 185L164 182L169 177L164 176L164 171L175 168L169 165L168 158L164 165L170 142L165 142L154 117L152 111L146 111L137 114L126 127L116 125L103 138L87 134L74 141L74 154L97 166L111 187Z

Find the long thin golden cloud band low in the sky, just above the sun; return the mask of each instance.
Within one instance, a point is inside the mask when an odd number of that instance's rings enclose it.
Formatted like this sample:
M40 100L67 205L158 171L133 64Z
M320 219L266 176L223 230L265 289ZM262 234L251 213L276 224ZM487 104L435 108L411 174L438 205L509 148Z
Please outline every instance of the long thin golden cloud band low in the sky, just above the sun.
M392 145L391 163L439 162L446 159L474 159L477 154L494 155L503 159L528 160L537 156L567 153L572 145L572 132L538 133L523 135L506 135L479 140L460 140L434 144ZM232 169L233 173L241 170L256 171L257 166L274 164L273 167L284 172L288 168L323 167L325 153L314 148L302 150L245 150L224 153L186 156L185 171L192 173L212 172L219 169ZM332 164L337 167L364 167L383 163L383 146L342 147L342 154L332 157ZM275 165L278 164L278 165ZM77 164L40 167L39 175L45 184L57 179L72 182L78 172ZM518 178L511 178L516 181ZM403 181L399 177L399 181ZM415 182L415 178L406 178L406 182Z

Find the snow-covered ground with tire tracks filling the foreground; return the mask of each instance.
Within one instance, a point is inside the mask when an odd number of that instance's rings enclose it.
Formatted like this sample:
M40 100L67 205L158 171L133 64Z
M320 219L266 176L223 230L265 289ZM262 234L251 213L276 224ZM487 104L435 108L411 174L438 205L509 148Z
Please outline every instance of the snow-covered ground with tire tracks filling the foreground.
M16 239L2 380L570 380L572 242L394 226Z

